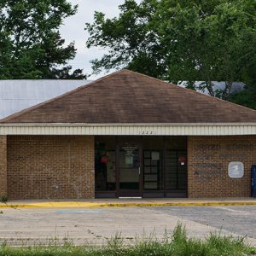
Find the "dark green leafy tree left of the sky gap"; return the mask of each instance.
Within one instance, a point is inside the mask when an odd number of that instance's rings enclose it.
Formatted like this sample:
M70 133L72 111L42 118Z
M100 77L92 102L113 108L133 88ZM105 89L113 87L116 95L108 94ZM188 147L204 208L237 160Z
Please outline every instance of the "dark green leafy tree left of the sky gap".
M78 6L66 0L0 0L0 79L81 79L67 66L74 43L59 28Z

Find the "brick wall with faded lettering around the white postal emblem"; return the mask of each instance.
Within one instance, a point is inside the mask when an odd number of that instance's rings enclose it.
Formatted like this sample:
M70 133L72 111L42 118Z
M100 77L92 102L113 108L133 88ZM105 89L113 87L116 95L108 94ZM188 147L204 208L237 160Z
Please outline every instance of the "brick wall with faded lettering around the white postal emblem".
M244 164L244 177L229 177L231 161ZM256 136L188 137L189 197L250 196L253 164Z

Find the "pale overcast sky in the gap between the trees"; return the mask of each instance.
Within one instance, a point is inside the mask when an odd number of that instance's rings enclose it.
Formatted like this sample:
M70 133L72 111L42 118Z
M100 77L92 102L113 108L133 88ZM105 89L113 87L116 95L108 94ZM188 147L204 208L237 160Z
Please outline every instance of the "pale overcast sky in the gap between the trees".
M79 4L79 10L76 15L68 17L64 20L61 26L61 36L66 39L66 44L75 42L77 55L69 64L74 69L82 68L84 73L90 74L92 72L90 60L100 58L104 54L104 49L91 48L86 49L85 42L89 37L88 33L84 31L86 22L93 21L95 11L101 11L108 18L119 15L119 5L125 3L125 0L69 0L73 5ZM99 75L92 75L89 79L98 79L107 73Z

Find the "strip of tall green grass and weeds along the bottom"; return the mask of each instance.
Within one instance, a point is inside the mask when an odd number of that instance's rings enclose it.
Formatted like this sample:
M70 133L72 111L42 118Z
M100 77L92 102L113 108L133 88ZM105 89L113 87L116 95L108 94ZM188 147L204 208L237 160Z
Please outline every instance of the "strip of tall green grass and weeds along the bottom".
M9 247L3 244L0 255L8 256L240 256L256 255L256 247L245 245L243 238L221 236L211 233L204 240L189 238L182 224L178 224L172 235L159 240L154 235L137 238L129 245L121 236L107 240L102 247L84 245L74 246L66 241L62 246L56 244L47 247Z

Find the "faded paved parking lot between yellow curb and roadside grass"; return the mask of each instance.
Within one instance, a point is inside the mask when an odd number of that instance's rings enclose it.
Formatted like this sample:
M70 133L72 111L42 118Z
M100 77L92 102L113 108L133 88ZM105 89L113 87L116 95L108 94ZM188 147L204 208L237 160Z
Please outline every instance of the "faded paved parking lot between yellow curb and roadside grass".
M177 223L189 236L204 238L209 232L247 236L256 246L256 206L236 207L93 207L3 208L0 242L42 244L53 240L76 244L102 244L111 236L125 241L154 234L162 238Z

